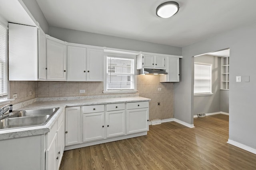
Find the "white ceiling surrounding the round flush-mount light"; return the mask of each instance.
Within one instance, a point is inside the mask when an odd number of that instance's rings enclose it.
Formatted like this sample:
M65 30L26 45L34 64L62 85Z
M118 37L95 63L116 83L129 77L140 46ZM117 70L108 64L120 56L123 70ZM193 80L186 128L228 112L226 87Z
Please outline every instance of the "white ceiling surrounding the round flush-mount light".
M156 7L168 0L36 0L50 26L184 47L256 22L256 0L176 0L168 19Z

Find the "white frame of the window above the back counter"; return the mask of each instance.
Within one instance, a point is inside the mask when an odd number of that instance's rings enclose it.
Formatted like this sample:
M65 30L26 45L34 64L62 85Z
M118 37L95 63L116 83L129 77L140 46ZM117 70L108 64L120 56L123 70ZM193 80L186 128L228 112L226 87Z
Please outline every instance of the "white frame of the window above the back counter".
M133 67L134 67L134 74L133 74L133 87L132 90L107 90L107 57L114 57L114 58L122 58L122 59L133 59ZM127 54L108 54L104 55L104 91L103 93L136 93L137 92L137 80L136 80L136 56L135 55L127 55Z

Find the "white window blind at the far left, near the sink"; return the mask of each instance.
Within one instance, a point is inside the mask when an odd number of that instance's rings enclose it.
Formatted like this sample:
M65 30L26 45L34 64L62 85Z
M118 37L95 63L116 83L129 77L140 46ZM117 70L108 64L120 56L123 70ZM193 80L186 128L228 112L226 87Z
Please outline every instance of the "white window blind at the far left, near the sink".
M7 29L0 23L0 98L8 96L6 63Z

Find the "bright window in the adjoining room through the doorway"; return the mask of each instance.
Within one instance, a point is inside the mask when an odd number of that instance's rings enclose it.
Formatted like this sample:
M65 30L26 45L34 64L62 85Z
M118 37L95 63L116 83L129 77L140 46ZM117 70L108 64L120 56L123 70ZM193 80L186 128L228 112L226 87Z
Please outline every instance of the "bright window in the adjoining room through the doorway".
M212 94L212 64L194 63L194 95Z

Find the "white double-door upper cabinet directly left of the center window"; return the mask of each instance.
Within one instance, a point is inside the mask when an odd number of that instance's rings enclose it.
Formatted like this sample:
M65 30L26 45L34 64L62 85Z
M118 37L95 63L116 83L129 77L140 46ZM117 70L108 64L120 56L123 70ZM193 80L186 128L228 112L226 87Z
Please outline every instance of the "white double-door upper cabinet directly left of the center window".
M103 81L103 49L80 46L68 46L68 81Z

